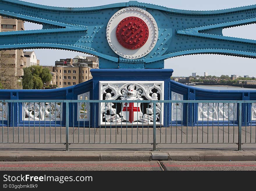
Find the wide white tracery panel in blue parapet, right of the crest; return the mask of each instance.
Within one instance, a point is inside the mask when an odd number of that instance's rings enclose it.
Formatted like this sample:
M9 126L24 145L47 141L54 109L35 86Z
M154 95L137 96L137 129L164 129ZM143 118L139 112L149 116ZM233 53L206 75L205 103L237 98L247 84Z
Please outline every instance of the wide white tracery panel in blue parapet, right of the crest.
M237 103L198 103L198 121L237 120Z

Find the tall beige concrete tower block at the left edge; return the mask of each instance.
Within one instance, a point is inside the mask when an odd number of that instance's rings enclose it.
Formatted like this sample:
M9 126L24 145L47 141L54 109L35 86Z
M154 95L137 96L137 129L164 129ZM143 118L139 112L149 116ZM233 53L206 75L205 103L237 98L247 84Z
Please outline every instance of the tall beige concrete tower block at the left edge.
M23 31L24 21L19 19L13 19L10 17L0 16L0 32L6 31ZM24 75L24 53L23 50L8 50L1 51L2 54L5 52L11 55L8 63L12 65L10 73L13 74L13 88L22 89L22 76ZM0 55L1 56L1 55Z

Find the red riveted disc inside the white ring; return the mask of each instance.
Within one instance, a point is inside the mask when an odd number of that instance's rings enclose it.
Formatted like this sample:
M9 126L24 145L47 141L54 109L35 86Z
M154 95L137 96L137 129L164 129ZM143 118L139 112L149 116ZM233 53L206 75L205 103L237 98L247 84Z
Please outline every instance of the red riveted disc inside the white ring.
M127 17L122 19L116 28L118 42L127 49L138 49L148 39L147 24L138 17Z

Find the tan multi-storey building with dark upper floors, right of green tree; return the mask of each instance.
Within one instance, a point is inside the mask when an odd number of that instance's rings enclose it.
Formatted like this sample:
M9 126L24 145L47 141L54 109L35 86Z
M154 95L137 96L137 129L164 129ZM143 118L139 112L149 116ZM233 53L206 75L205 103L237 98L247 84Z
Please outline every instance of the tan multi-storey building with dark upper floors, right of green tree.
M99 68L99 60L95 56L76 56L57 60L55 66L43 67L56 74L56 81L52 80L52 83L58 88L65 88L92 79L90 69Z

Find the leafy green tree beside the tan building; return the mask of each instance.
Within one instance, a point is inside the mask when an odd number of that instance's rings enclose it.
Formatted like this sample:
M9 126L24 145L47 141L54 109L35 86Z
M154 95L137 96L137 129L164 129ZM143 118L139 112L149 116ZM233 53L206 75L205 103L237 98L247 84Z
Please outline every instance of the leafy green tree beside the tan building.
M51 81L51 73L48 68L34 65L24 68L23 89L42 89L43 83Z

